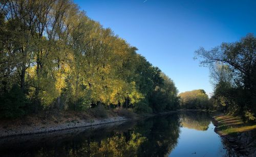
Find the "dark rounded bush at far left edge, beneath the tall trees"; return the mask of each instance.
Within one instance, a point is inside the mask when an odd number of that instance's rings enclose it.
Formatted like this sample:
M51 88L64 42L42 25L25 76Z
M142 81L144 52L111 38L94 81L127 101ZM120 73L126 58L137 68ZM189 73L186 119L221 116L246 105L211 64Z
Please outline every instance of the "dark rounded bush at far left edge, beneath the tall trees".
M0 95L0 118L18 118L26 114L27 99L18 85Z

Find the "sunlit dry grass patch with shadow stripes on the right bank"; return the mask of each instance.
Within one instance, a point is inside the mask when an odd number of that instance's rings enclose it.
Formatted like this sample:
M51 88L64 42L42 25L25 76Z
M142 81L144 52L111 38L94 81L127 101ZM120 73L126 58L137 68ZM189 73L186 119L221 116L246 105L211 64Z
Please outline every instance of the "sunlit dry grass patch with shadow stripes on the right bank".
M217 131L221 135L235 134L256 129L256 123L245 123L241 117L231 115L217 115L214 117L219 126Z

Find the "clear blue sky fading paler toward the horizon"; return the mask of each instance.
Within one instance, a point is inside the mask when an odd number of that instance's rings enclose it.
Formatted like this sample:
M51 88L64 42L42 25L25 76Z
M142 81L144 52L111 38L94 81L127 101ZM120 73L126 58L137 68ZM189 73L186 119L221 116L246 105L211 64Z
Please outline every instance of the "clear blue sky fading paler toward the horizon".
M194 60L199 47L214 48L256 35L256 1L74 0L93 20L111 28L159 67L179 92L212 93L209 69Z

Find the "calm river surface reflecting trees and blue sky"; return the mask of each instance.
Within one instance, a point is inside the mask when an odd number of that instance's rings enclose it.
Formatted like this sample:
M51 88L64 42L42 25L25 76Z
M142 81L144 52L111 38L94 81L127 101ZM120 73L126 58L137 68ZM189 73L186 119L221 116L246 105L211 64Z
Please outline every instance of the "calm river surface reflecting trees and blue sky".
M0 156L230 156L204 112L0 139Z

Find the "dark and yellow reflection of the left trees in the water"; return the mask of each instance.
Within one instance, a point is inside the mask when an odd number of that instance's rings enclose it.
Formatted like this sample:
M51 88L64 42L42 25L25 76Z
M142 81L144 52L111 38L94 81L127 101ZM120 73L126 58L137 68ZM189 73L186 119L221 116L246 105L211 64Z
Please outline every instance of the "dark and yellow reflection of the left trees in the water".
M176 147L179 128L178 115L159 116L114 128L32 140L32 145L26 141L12 147L16 151L6 152L9 156L164 156Z

